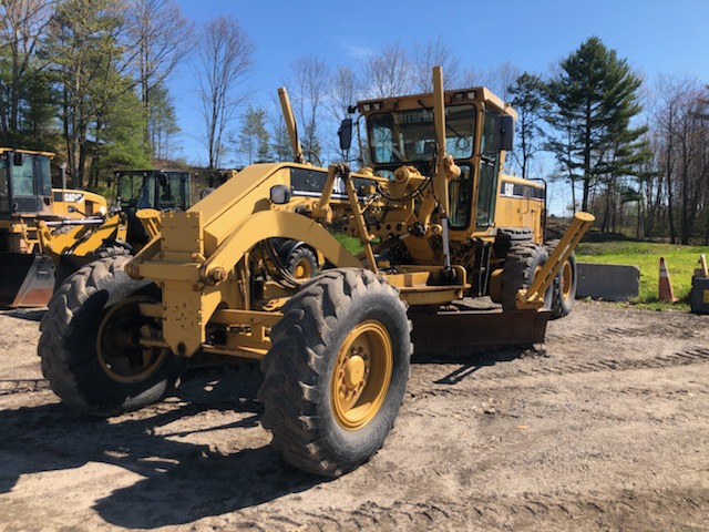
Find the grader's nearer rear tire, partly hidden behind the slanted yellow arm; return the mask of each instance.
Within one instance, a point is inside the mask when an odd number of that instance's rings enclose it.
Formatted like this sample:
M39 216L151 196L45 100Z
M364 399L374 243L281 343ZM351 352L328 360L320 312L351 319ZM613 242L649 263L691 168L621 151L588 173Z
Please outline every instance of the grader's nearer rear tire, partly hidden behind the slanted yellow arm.
M533 242L515 244L510 248L505 259L501 282L501 299L503 311L515 311L517 309L517 291L527 288L536 272L544 266L549 256L546 249ZM544 295L543 308L552 308L554 283L547 288Z

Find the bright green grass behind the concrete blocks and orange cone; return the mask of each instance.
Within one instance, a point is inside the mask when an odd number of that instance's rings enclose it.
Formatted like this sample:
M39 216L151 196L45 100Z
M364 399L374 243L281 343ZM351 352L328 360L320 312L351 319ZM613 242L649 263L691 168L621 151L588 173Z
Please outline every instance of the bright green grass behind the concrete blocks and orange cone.
M610 241L582 242L576 248L576 259L579 263L628 264L639 267L640 290L637 300L631 303L655 309L689 308L691 277L695 268L699 267L701 254L709 258L709 247ZM665 257L675 297L680 299L675 305L658 303L660 257Z

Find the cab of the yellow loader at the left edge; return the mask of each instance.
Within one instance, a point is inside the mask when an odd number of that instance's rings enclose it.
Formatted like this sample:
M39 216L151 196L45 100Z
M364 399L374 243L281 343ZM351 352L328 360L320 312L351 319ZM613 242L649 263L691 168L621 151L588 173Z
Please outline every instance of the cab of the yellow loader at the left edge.
M0 217L51 214L53 154L0 147Z

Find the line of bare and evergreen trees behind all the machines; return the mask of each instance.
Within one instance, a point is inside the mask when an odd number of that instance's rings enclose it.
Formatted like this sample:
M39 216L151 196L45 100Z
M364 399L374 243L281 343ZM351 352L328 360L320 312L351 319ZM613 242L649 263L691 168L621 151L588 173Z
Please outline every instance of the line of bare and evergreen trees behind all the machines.
M171 75L187 61L209 168L292 158L277 102L257 104L247 89L256 44L233 17L195 28L174 0L0 0L0 144L56 152L73 186L173 158ZM513 104L511 166L564 183L567 211L593 212L602 231L709 243L706 84L645 79L596 37L545 73L463 68L441 39L395 42L348 65L297 58L282 84L307 156L341 157L333 132L348 106L430 92L436 64L446 88L485 85Z

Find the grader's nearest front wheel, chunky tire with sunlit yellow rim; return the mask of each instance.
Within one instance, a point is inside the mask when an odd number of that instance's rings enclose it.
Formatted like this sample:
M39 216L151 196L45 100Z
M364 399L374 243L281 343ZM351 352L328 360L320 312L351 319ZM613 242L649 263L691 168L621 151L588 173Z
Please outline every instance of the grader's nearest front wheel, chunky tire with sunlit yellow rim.
M407 306L383 278L332 269L284 307L258 398L273 446L298 469L339 477L394 424L409 378Z

